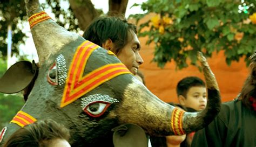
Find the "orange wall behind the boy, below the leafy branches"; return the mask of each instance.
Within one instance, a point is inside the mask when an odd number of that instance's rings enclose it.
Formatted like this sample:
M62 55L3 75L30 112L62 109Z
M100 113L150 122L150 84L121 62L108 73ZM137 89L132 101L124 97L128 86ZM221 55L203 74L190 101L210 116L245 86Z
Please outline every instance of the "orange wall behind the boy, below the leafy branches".
M165 68L160 69L153 59L153 45L146 46L146 38L139 38L142 44L140 54L144 59L144 64L140 66L140 71L145 75L146 86L149 90L165 102L178 102L176 86L179 80L186 76L198 76L204 79L203 73L198 71L195 66L188 66L185 69L176 71L174 62L169 62ZM222 101L229 101L235 98L247 78L248 68L244 59L240 62L232 62L227 66L223 52L214 53L212 58L207 59L215 77L218 81Z

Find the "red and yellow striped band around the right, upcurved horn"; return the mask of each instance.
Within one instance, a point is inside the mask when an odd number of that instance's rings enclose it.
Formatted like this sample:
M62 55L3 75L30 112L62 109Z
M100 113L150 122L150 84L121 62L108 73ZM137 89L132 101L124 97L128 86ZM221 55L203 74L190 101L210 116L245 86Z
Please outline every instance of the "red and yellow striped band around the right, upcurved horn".
M174 132L174 135L183 135L186 134L183 130L182 118L184 114L184 110L179 108L174 108L172 111L172 120L171 127Z

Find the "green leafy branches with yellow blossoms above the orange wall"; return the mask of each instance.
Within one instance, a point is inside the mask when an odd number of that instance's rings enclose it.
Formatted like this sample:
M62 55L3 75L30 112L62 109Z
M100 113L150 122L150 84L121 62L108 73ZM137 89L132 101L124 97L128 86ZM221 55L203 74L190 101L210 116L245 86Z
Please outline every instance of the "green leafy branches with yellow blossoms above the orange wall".
M255 2L245 1L256 6ZM147 12L132 17L138 21L151 14L150 20L140 24L139 36L148 37L147 44L155 44L153 61L160 67L174 61L181 69L188 66L187 59L197 66L197 51L209 57L221 50L230 65L256 51L255 6L248 13L239 13L239 5L240 1L232 0L149 0L141 4Z

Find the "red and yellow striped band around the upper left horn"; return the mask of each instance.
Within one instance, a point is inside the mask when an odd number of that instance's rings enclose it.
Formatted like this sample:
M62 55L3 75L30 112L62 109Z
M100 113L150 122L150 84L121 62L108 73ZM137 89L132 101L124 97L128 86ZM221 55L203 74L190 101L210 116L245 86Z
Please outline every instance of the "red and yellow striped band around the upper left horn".
M40 13L35 13L34 15L29 17L30 29L32 29L34 25L47 19L51 19L51 17L46 12L42 11Z

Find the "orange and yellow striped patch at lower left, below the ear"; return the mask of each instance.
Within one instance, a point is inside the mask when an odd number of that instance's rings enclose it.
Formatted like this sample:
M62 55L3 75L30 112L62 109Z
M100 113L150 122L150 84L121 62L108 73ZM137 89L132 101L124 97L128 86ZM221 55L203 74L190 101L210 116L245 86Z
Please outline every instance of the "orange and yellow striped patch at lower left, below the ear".
M36 118L25 113L24 111L18 111L18 113L12 118L11 122L18 124L20 127L24 127L28 124L36 122Z

